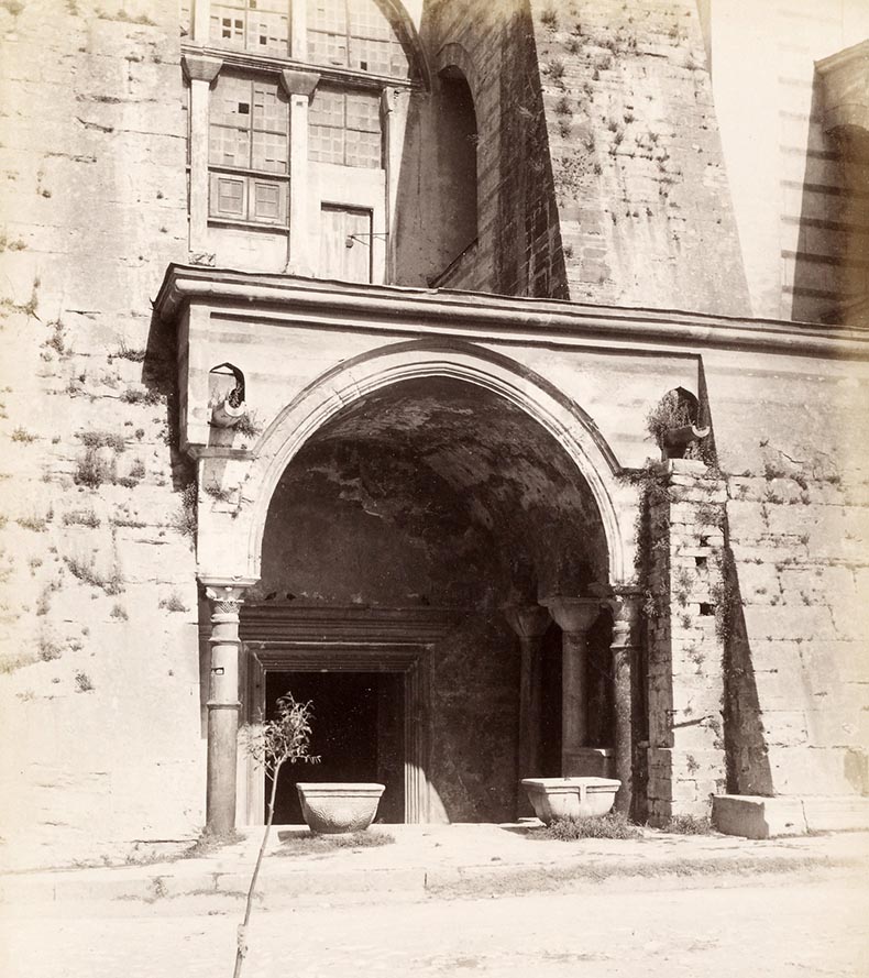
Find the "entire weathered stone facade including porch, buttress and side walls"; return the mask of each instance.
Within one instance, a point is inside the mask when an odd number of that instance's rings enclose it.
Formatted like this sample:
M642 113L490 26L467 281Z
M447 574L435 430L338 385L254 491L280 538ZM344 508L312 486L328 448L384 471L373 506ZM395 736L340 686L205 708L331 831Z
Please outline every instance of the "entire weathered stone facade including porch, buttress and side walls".
M300 135L308 89L341 72L273 58L296 120L277 264L262 229L209 223L215 89L195 59L243 58L207 43L205 0L0 8L4 838L50 858L201 826L206 587L226 586L458 613L422 642L427 817L515 814L521 711L537 702L551 734L568 701L561 633L541 663L504 606L578 595L602 607L588 746L618 741L620 777L629 756L636 814L702 815L725 791L865 800L869 367L846 312L866 295L867 157L853 120L847 153L840 117L825 129L839 63L813 59L869 26L847 3L780 4L746 72L746 28L719 7L408 9L417 75L365 81L385 142L364 177L308 161ZM780 77L761 72L771 31ZM470 189L449 149L462 79ZM741 125L763 136L750 155ZM337 250L367 246L369 281L318 265L337 204L372 213ZM784 321L822 318L855 326ZM243 430L211 424L226 363ZM711 464L672 460L650 492L646 418L680 388ZM363 461L348 475L318 451ZM273 531L279 485L298 492ZM644 614L614 618L637 591ZM531 674L541 696L520 707Z

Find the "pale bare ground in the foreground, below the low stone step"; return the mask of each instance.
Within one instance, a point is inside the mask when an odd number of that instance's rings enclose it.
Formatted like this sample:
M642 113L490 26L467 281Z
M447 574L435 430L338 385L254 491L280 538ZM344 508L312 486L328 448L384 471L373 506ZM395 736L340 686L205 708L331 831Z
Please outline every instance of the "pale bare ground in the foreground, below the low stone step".
M229 975L231 898L19 906L2 923L4 978ZM854 870L580 882L569 892L255 911L245 978L358 975L869 975L869 886Z

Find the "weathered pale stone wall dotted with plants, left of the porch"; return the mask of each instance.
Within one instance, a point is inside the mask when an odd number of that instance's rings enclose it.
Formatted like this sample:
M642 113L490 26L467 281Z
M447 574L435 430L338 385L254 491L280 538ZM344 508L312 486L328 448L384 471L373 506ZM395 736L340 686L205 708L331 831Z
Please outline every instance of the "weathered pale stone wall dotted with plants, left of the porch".
M150 307L187 254L178 10L99 8L0 9L2 835L77 855L195 831L204 801L190 473Z

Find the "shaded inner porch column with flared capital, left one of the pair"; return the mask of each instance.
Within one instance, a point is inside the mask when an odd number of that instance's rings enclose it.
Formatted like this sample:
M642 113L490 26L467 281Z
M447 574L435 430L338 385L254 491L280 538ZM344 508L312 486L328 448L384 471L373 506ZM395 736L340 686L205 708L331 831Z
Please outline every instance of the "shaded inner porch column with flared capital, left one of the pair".
M522 778L540 777L540 704L542 696L543 635L549 627L549 612L539 604L508 604L504 614L519 637L519 756Z

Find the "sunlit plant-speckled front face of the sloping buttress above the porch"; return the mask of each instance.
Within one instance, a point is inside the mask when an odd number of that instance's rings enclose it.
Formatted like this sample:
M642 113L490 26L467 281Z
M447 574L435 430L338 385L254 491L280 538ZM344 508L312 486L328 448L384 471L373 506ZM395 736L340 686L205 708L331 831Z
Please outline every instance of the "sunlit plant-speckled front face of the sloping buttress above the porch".
M570 297L748 311L693 0L535 0Z

